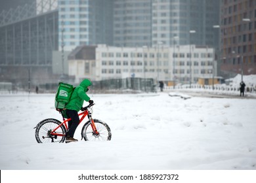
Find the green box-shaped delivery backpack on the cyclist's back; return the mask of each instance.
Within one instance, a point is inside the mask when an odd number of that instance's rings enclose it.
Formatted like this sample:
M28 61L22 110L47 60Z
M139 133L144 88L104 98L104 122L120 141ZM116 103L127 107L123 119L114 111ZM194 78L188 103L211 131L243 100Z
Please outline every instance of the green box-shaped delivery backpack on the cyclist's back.
M58 90L55 95L55 108L58 111L65 109L66 104L70 101L70 97L74 92L74 86L60 82L58 84Z

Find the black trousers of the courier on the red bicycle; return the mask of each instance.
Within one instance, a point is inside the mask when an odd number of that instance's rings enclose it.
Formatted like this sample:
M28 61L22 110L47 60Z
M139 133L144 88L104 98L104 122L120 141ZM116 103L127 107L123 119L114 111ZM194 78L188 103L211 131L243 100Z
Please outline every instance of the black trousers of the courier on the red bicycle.
M76 110L66 110L66 115L71 120L68 122L68 132L66 134L67 137L74 137L75 129L79 125L79 116Z

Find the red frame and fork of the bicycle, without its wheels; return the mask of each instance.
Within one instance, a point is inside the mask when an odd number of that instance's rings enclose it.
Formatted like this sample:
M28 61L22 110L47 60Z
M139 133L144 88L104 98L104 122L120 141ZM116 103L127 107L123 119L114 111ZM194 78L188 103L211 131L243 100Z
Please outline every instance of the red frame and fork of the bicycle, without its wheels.
M93 129L93 131L98 135L98 131L96 129L96 125L95 122L91 116L91 112L89 112L89 110L85 110L83 112L81 112L80 114L78 114L78 116L81 116L80 120L79 120L79 124L81 124L81 122L83 121L83 119L88 116L88 119L91 121L91 127ZM64 125L64 127L66 127L67 131L68 131L68 125L67 122L69 122L71 120L71 118L68 118L66 120L64 120L60 125L58 125L55 129L53 129L53 131L50 133L51 135L56 135L56 136L65 136L66 134L60 134L60 133L56 133L56 129L58 129L61 125ZM78 125L79 125L78 124Z

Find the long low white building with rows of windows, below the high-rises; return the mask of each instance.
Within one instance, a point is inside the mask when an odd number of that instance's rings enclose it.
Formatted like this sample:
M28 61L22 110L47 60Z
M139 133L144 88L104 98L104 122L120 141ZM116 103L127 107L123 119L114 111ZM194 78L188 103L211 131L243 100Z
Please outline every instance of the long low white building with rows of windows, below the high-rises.
M125 48L104 44L94 48L81 46L69 59L69 75L74 76L75 82L83 78L105 80L139 77L175 80L175 83L182 84L189 83L191 78L191 82L196 83L198 78L216 74L217 67L213 55L213 48L198 48L195 45L158 45L153 48Z

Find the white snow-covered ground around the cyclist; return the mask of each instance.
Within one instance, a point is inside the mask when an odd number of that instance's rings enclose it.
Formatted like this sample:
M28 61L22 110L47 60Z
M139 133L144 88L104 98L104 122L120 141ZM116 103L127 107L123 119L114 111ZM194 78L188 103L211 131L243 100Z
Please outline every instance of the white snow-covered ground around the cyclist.
M54 94L0 95L0 169L256 169L256 99L95 95L112 141L38 144ZM75 138L81 139L81 127Z

